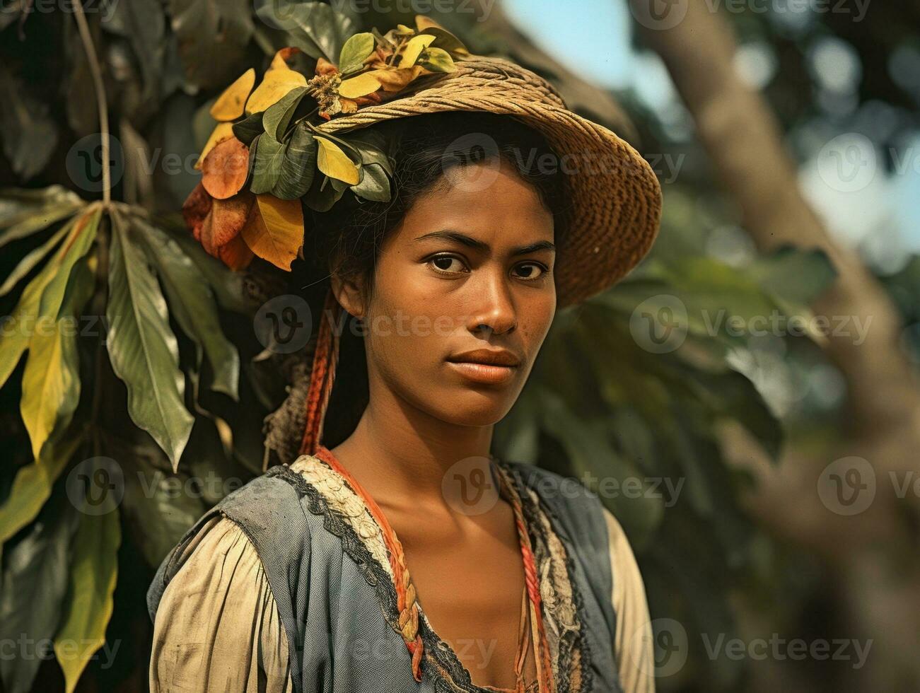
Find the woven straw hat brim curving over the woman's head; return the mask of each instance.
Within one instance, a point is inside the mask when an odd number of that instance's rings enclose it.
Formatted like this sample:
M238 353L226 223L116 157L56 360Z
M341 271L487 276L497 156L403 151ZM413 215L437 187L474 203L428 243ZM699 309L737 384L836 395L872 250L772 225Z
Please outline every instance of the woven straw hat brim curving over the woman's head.
M625 140L568 110L539 75L498 58L475 56L404 98L323 123L329 133L449 110L507 114L543 133L558 155L568 193L569 236L555 266L559 307L612 286L648 253L661 223L661 185Z

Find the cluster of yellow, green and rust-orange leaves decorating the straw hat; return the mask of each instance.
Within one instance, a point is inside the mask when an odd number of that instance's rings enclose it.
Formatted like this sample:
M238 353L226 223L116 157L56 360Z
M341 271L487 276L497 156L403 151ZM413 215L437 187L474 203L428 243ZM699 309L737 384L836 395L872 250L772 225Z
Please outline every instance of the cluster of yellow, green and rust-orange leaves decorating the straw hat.
M323 123L405 96L415 80L454 72L454 59L469 55L430 17L351 33L326 27L320 3L282 2L296 10L278 27L294 45L274 54L258 84L249 69L213 101L216 124L195 165L201 183L183 206L195 239L235 270L258 257L290 271L303 248L302 203L325 212L349 190L388 202L389 144L373 128L333 135ZM257 14L270 9L261 2Z

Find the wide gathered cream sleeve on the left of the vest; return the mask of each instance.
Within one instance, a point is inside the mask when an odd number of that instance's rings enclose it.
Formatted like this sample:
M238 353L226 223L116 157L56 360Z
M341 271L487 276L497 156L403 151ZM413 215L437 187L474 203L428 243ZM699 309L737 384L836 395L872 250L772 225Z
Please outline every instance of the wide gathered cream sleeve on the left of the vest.
M291 691L287 636L243 530L214 518L186 550L156 609L152 693Z

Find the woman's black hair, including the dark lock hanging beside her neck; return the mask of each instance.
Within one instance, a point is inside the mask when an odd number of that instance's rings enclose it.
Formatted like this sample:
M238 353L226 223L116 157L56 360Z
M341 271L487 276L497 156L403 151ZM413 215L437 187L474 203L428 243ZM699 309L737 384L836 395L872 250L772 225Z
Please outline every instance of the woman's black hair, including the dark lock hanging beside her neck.
M330 266L342 274L362 274L373 287L376 260L385 237L420 195L437 191L452 167L500 156L534 186L553 214L554 241L567 237L569 203L560 167L542 168L546 157L558 164L546 138L507 115L484 111L446 111L385 121L371 126L392 144L390 202L356 200L351 191L328 212L305 209L304 261L295 261L292 293L304 295L316 323L328 289ZM465 136L466 135L466 136ZM353 319L353 318L349 318ZM349 322L341 326L339 367L329 399L324 445L338 445L354 430L367 405L367 371L363 339Z

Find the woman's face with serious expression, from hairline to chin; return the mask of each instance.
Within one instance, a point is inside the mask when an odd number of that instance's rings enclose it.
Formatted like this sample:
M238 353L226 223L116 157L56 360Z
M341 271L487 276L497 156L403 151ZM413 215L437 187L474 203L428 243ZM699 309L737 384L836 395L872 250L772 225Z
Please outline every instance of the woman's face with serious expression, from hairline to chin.
M383 385L462 425L504 417L556 312L553 241L552 214L504 159L443 176L385 239L359 308L372 397Z

